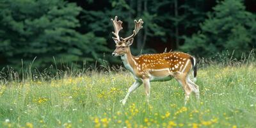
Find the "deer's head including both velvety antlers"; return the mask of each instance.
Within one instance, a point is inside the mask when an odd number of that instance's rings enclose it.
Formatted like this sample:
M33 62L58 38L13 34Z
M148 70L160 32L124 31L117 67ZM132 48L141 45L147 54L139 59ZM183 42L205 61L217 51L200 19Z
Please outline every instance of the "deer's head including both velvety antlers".
M113 26L115 29L115 32L112 32L112 34L115 37L112 37L113 40L116 43L116 49L115 51L112 53L113 56L121 56L123 54L126 54L127 52L129 52L129 46L132 45L134 36L137 35L137 33L140 31L141 28L143 28L142 24L143 21L140 20L134 20L134 30L132 31L132 35L128 36L126 38L120 38L118 33L122 28L122 21L121 20L117 20L117 16L115 16L115 20L111 19L111 21L113 22Z

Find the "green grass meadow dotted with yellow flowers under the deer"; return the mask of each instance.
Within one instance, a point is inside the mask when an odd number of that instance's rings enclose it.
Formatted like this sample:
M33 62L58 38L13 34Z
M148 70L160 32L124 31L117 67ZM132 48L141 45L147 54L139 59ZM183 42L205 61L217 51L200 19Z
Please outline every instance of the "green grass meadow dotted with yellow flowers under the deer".
M200 68L195 96L173 79L143 86L120 100L133 79L128 72L90 72L61 79L1 82L0 127L256 127L254 63Z

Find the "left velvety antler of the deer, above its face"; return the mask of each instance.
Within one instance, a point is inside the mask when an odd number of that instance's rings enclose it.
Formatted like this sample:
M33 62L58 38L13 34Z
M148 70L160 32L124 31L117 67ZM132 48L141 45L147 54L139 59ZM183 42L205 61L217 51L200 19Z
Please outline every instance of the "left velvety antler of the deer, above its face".
M120 41L120 38L119 38L119 31L122 28L122 21L121 20L117 20L117 16L115 16L115 20L111 19L111 21L113 22L113 26L114 26L114 29L115 29L115 33L112 31L112 34L116 37L112 37L113 40L115 40L115 42L117 43L117 41Z

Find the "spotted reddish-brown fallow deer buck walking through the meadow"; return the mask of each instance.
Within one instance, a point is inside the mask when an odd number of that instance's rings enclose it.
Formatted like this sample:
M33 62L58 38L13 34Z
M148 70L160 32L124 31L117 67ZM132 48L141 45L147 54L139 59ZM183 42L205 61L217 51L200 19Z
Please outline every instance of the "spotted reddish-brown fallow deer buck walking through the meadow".
M142 54L141 56L132 56L130 45L134 36L142 28L143 21L134 20L134 30L132 35L127 38L120 38L118 33L122 28L122 21L111 19L115 32L112 37L116 43L116 49L113 56L121 56L125 68L134 76L135 82L129 88L125 98L121 100L125 105L129 94L138 88L142 83L145 87L147 102L150 96L150 81L169 81L174 77L182 85L185 92L185 104L189 99L191 92L196 94L199 99L199 87L189 79L189 73L193 70L193 76L196 78L196 60L193 56L183 52L166 52L162 54Z

